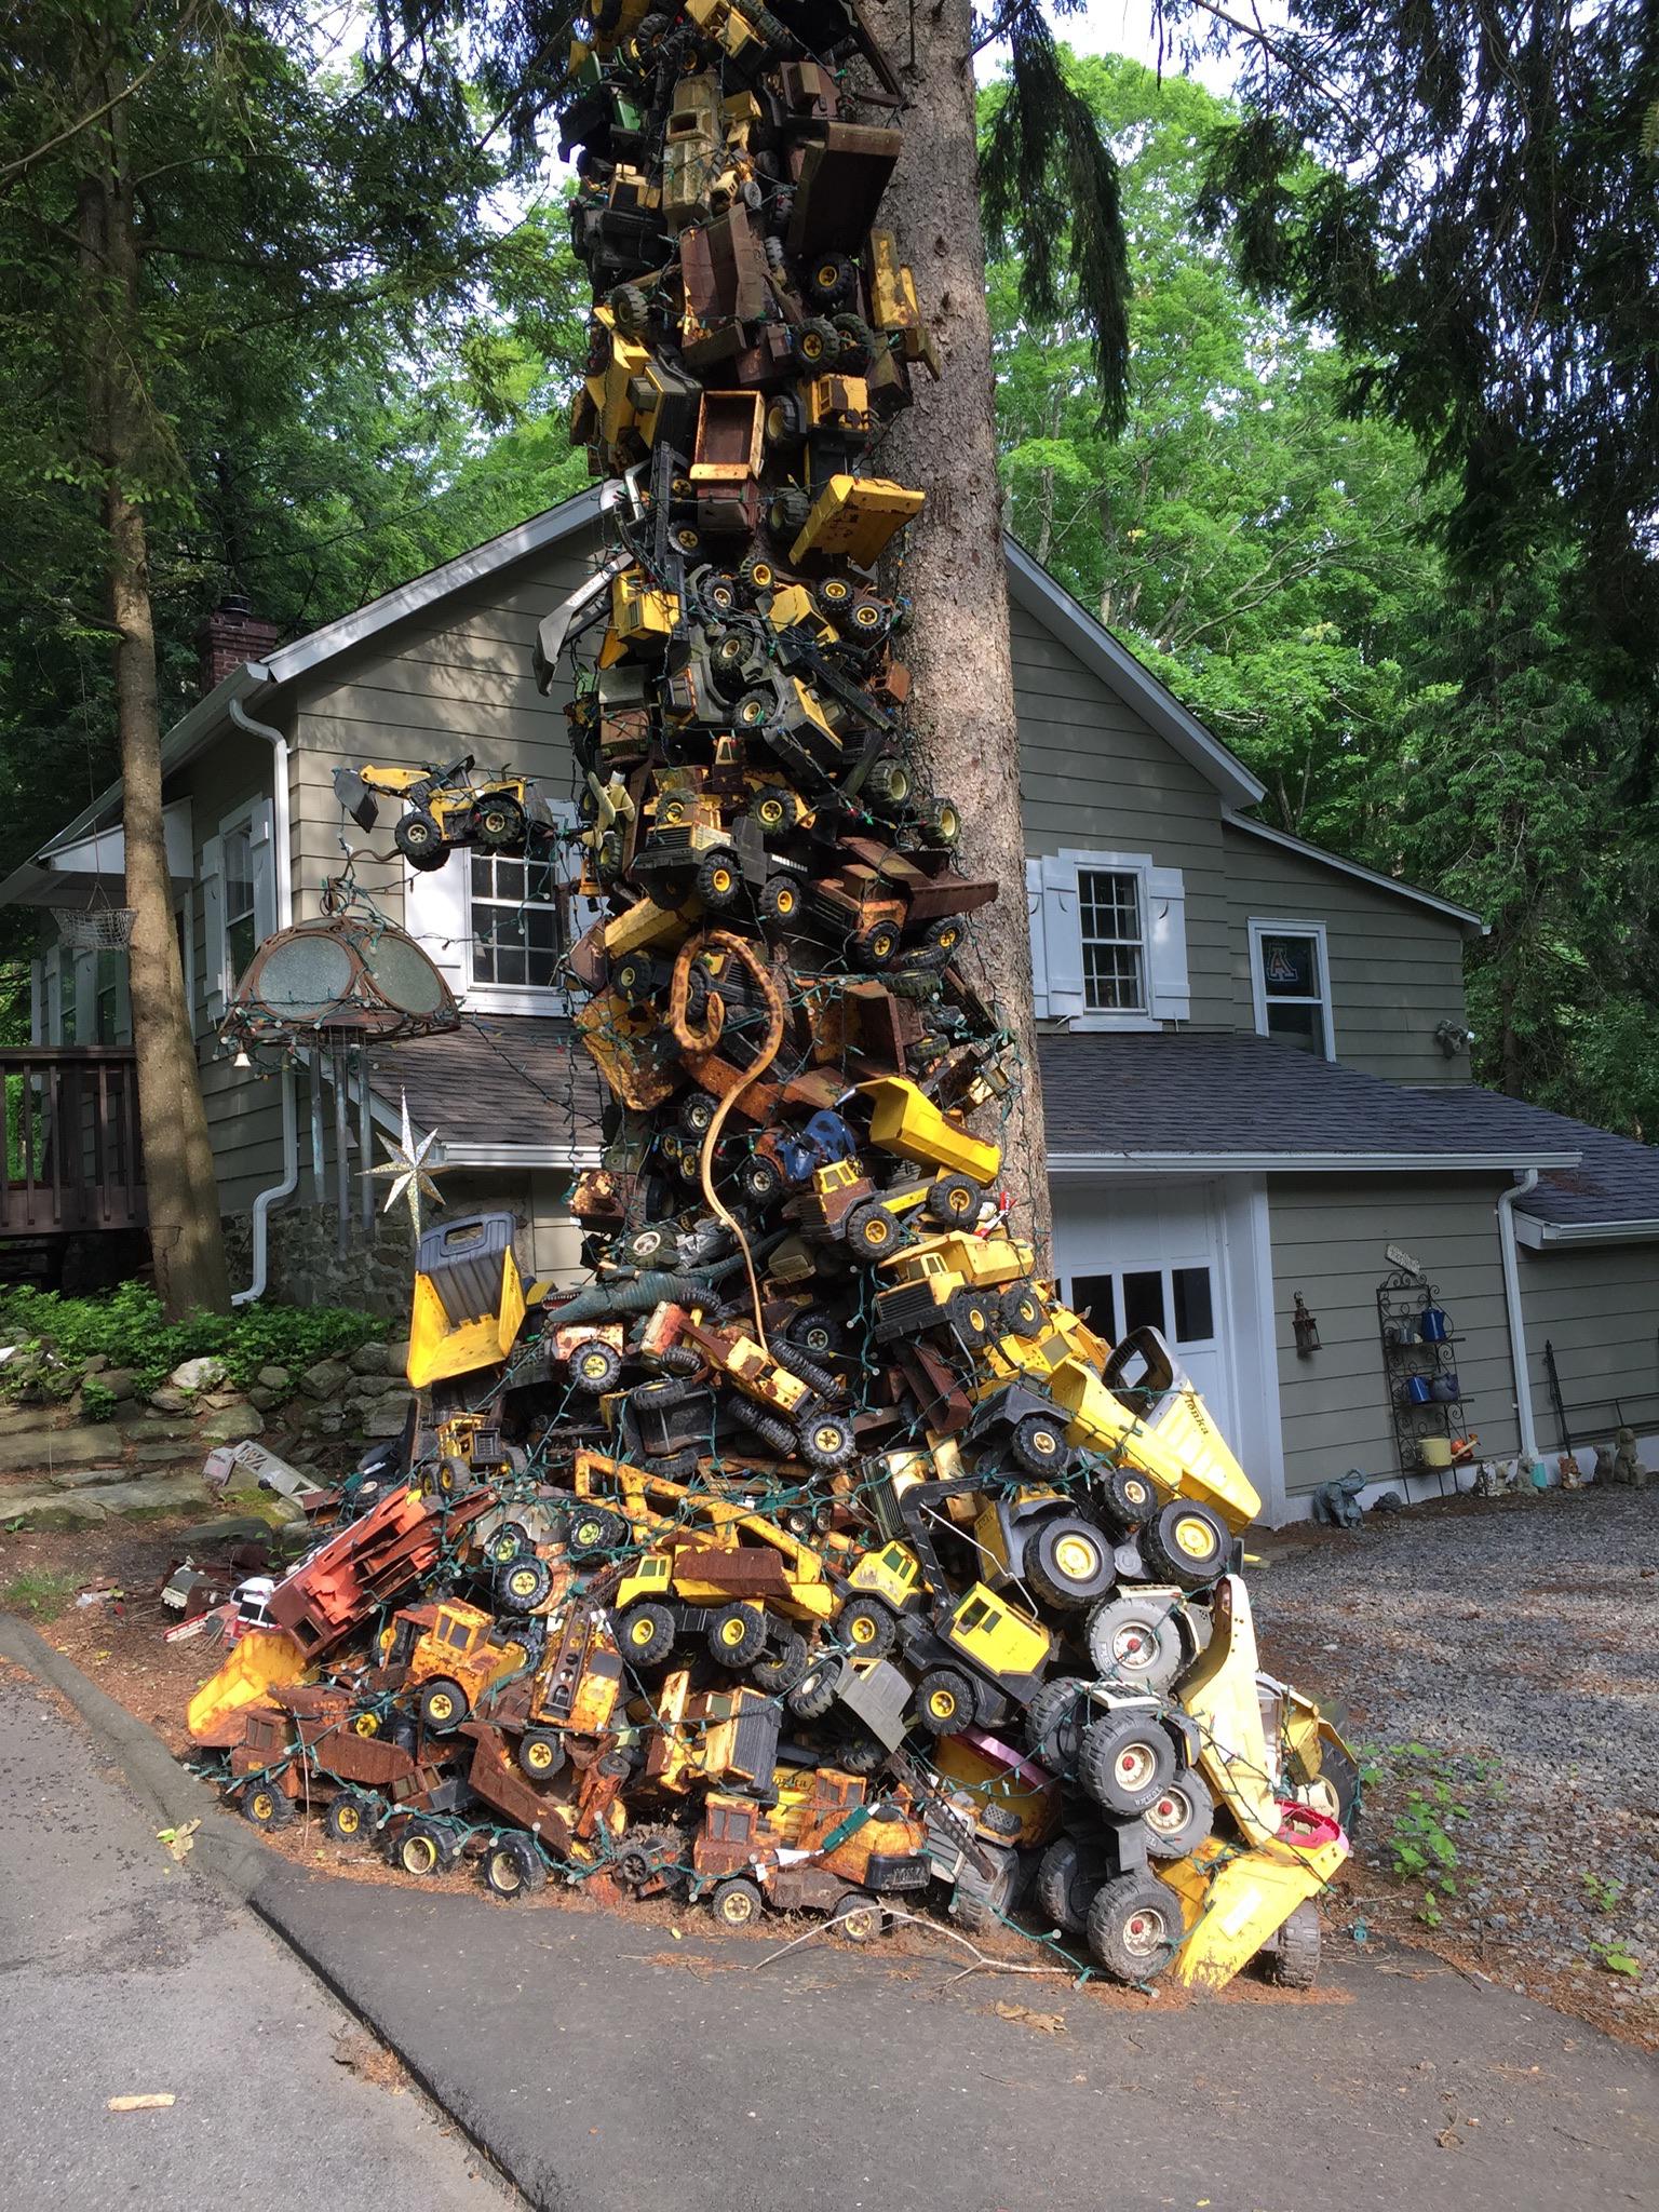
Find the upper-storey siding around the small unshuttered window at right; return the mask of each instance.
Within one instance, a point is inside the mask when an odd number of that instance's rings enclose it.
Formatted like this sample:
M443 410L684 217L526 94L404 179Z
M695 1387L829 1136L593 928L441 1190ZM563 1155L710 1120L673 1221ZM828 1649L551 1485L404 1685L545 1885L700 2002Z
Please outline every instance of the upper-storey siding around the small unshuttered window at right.
M1433 1042L1464 1020L1464 929L1248 830L1221 832L1232 953L1230 1029L1254 1029L1250 922L1325 922L1336 1057L1396 1084L1467 1084L1469 1053Z

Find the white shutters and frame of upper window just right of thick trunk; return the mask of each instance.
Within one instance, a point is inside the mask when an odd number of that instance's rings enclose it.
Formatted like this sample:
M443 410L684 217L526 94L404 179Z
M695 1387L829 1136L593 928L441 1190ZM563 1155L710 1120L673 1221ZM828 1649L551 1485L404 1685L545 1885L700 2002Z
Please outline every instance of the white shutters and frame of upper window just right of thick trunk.
M1088 1004L1077 878L1133 876L1141 914L1141 982L1146 1006L1110 1011ZM1031 916L1031 980L1037 1020L1091 1031L1161 1031L1192 1020L1186 951L1186 883L1179 867L1161 867L1150 852L1082 852L1026 860Z

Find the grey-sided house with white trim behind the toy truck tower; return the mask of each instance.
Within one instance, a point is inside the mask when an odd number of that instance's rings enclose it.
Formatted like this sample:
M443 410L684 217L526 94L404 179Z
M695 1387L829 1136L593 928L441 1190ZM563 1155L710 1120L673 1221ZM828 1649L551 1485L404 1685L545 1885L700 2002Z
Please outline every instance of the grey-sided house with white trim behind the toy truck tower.
M336 768L476 752L571 794L531 639L588 573L597 529L597 495L568 500L281 648L234 611L210 624L212 688L164 759L248 1292L398 1303L409 1254L396 1221L365 1232L356 1199L338 1221L327 1068L259 1075L217 1051L234 978L365 847ZM1473 1433L1482 1458L1553 1455L1546 1345L1582 1453L1617 1420L1659 1429L1659 1152L1471 1084L1462 953L1480 918L1254 821L1256 779L1108 630L1013 544L1006 575L1055 1267L1073 1303L1106 1334L1150 1321L1170 1336L1276 1522L1354 1467L1431 1491L1442 1478L1402 1427ZM119 872L111 790L0 900L84 907L102 883L119 902ZM414 876L358 849L354 872L467 1015L458 1035L376 1057L372 1121L396 1130L407 1099L416 1133L438 1137L449 1208L511 1206L526 1263L575 1270L564 1192L595 1150L595 1091L571 1053L549 883L487 856ZM51 945L38 1042L119 1042L124 991L122 956ZM349 1170L361 1108L341 1117ZM1396 1418L1402 1380L1425 1363L1385 1343L1378 1310L1398 1270L1391 1303L1449 1316L1429 1365L1458 1391L1411 1420Z

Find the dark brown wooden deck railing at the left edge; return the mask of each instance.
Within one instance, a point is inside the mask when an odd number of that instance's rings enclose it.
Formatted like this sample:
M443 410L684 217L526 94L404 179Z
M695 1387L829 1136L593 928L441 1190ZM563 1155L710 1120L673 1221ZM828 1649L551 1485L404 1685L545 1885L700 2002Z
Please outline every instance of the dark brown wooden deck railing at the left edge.
M0 1075L0 1237L142 1228L133 1053L4 1046Z

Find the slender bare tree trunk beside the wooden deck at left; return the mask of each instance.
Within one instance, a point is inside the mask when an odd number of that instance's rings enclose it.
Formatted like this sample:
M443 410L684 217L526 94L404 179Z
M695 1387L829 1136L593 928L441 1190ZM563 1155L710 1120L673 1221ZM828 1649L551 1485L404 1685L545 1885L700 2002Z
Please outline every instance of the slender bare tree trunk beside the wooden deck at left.
M131 343L137 330L137 241L122 124L117 102L108 115L100 168L84 181L80 199L88 279L86 396L91 442L104 467L126 905L133 909L128 982L139 1141L155 1283L168 1318L179 1318L195 1307L226 1312L230 1279L161 821L161 712L148 540L144 511L133 498L142 465L139 394L133 383L137 349Z

